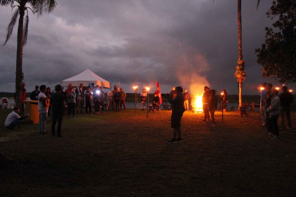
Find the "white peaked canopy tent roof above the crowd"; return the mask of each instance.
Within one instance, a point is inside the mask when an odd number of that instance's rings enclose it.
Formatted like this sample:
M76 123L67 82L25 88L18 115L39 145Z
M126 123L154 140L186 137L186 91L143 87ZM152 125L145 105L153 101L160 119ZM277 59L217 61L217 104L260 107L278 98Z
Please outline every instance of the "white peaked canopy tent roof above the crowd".
M68 86L69 83L72 83L72 86L78 87L80 83L83 83L83 86L88 86L89 83L94 83L94 86L99 85L104 88L110 88L111 84L109 81L104 80L102 77L91 72L89 69L81 72L78 75L70 77L62 81L62 86Z

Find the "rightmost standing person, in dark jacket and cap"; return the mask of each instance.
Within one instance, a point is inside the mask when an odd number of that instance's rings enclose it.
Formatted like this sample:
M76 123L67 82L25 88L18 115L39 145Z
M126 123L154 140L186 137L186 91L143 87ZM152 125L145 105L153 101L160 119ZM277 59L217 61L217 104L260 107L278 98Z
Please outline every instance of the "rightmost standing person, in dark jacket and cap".
M281 112L280 112L280 116L281 116L281 128L280 130L284 129L284 116L286 113L286 117L287 117L287 129L291 129L292 128L292 121L291 121L291 116L290 116L290 104L293 102L293 96L291 93L288 92L288 87L287 86L283 86L282 88L282 93L279 95L279 99L281 101Z

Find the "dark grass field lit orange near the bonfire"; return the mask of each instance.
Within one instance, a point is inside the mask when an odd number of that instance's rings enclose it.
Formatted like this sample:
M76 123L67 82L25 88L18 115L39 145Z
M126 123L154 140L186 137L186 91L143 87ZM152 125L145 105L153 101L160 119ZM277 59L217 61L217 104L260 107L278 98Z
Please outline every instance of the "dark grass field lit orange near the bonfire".
M271 139L258 112L226 112L224 123L216 112L216 127L185 112L183 142L173 144L170 111L65 117L65 138L39 135L38 125L8 131L8 113L0 110L0 153L12 161L1 161L0 196L296 195L295 130Z

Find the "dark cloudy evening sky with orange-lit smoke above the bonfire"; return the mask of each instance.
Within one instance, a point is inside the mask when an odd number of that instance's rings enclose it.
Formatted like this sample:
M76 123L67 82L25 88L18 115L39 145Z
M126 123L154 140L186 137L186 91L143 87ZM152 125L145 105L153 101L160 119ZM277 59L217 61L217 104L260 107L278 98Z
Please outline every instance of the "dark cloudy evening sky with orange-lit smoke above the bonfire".
M256 10L257 0L242 2L242 51L248 74L243 94L258 94L263 81L276 84L261 77L255 54L264 42L264 28L272 23L265 14L271 3L261 0ZM132 92L132 85L155 86L156 80L163 91L172 85L188 87L193 80L218 91L238 92L235 0L57 0L57 4L51 14L38 19L29 12L23 51L28 91L36 84L53 87L88 68L112 84L120 81L126 92ZM10 7L0 7L0 43L11 14ZM15 88L16 35L17 25L9 42L0 47L0 91Z

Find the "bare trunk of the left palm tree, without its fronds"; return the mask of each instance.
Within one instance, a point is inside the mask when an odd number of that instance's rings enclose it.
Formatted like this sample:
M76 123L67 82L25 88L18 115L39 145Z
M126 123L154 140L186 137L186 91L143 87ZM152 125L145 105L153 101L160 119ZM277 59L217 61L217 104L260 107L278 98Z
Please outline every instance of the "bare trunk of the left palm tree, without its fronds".
M15 104L21 108L22 100L22 80L24 74L22 73L22 48L24 38L24 6L20 5L20 19L17 28L17 62L15 71Z

